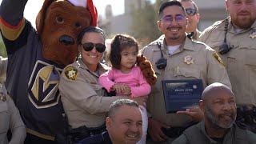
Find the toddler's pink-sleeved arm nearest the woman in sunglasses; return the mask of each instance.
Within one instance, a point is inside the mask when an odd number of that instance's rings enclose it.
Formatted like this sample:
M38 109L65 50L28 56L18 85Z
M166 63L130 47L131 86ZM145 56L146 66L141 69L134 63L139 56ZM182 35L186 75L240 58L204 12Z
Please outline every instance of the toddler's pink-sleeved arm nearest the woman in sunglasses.
M108 92L112 91L112 86L114 86L113 76L113 70L110 69L98 78L98 83L105 87Z

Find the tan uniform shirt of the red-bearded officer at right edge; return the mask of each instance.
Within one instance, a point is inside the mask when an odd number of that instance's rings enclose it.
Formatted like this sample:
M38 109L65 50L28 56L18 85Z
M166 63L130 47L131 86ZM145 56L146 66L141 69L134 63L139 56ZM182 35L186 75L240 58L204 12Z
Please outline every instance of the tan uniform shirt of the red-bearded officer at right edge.
M202 32L199 40L218 51L224 42L225 23L215 22ZM219 55L226 65L236 103L256 106L256 22L238 34L230 23L226 43L233 48L227 54Z

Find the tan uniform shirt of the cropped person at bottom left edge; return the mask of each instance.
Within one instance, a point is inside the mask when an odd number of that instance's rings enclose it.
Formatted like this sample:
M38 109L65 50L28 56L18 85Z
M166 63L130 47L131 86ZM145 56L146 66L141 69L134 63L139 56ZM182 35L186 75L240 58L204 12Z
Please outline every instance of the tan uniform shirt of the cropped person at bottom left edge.
M0 143L7 144L7 132L11 131L12 137L9 144L22 144L26 138L26 127L22 118L9 95L0 95Z

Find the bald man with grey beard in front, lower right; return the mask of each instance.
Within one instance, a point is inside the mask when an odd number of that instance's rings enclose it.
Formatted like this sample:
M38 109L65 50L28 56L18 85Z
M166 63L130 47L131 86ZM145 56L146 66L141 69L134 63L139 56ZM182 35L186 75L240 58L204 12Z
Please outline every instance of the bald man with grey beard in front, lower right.
M234 125L237 116L234 94L229 87L221 83L207 86L199 102L204 112L204 121L185 130L173 144L253 144L256 134L242 130Z

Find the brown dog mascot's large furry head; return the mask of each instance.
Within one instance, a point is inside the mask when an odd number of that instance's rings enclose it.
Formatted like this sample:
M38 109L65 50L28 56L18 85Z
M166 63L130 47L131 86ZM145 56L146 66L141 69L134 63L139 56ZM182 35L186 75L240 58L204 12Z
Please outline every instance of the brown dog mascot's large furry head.
M45 0L36 19L43 57L63 66L74 62L78 34L87 26L97 26L97 21L92 0Z

